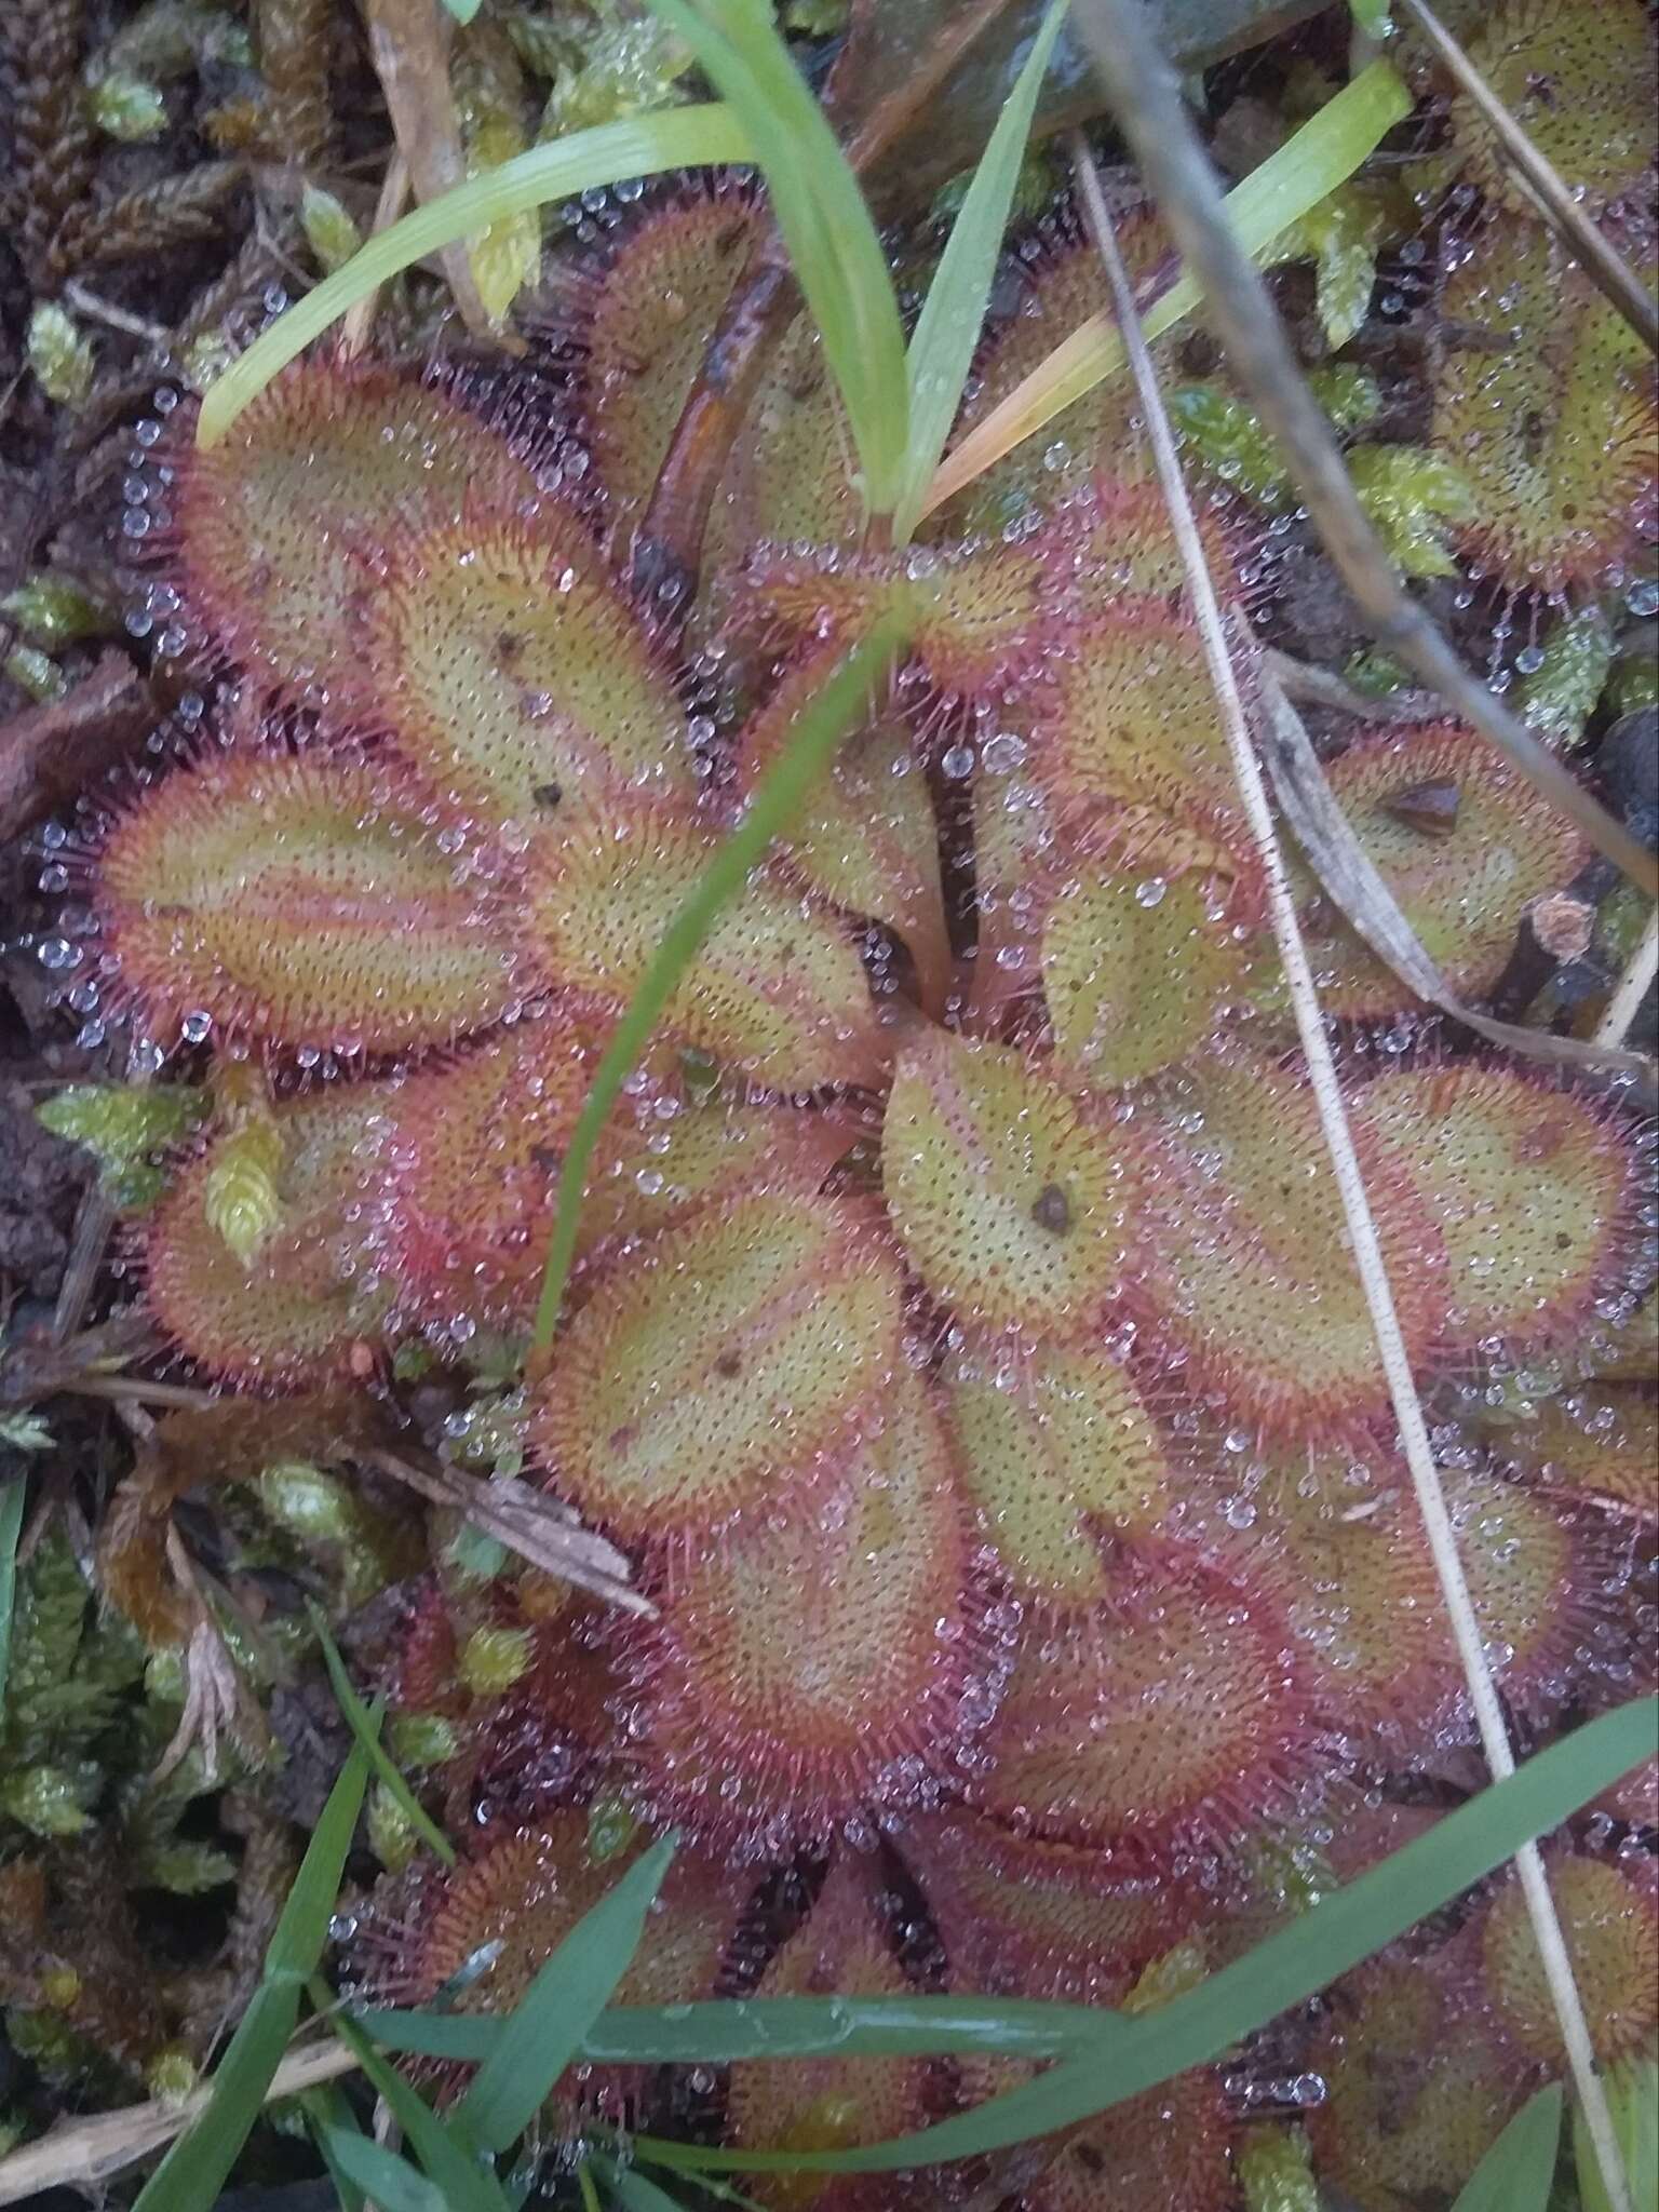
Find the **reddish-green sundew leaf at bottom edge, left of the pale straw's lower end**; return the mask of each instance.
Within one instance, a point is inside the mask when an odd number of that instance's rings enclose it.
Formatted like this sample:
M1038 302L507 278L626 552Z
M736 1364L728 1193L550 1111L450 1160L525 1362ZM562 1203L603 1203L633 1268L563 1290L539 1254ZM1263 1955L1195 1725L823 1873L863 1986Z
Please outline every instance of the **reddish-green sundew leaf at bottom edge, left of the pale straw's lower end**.
M1312 2064L1314 2170L1358 2212L1451 2203L1526 2097L1444 1953L1340 1982Z

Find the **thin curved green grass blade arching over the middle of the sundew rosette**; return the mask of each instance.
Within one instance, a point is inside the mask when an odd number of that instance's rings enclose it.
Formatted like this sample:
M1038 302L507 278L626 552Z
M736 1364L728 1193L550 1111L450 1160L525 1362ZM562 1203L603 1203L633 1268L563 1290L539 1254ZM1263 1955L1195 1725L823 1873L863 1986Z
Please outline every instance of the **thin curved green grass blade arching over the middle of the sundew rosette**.
M571 1148L560 1168L557 1212L553 1217L546 1267L542 1270L542 1296L535 1307L533 1354L544 1354L553 1343L560 1305L564 1303L564 1283L575 1256L582 1194L588 1181L593 1148L624 1082L650 1042L650 1033L664 1006L675 995L679 978L697 958L697 947L714 927L721 907L743 889L750 869L765 858L772 841L790 827L807 792L830 765L843 732L852 728L869 701L891 657L902 650L907 635L905 622L889 615L841 661L812 706L796 719L790 743L783 745L779 759L761 776L743 821L732 830L670 916L661 945L639 978L639 989L617 1022L611 1044L604 1048L588 1095L582 1102L575 1130L571 1133Z

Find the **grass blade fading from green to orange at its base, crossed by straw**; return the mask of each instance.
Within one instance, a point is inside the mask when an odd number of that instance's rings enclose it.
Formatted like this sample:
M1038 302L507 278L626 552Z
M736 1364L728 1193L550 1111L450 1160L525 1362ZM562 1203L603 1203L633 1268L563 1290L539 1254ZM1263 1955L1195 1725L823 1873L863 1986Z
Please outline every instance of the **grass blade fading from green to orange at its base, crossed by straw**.
M1371 62L1352 84L1329 100L1318 115L1267 155L1243 184L1228 192L1228 215L1239 243L1250 254L1265 254L1294 221L1316 208L1327 192L1345 184L1387 131L1411 113L1411 93L1387 62ZM1148 338L1161 336L1199 305L1199 288L1190 276L1175 283L1141 314ZM975 476L1011 453L1024 438L1093 392L1126 363L1124 338L1106 314L1093 314L1042 361L1024 383L991 409L962 442L945 456L933 473L920 513L931 515Z

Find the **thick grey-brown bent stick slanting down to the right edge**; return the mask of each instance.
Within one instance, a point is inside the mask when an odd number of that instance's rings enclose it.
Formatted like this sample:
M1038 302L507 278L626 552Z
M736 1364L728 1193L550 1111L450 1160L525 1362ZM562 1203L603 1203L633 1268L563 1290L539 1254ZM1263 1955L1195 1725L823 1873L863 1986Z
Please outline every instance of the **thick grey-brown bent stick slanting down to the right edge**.
M1203 290L1206 316L1225 347L1228 367L1279 442L1371 637L1498 745L1551 805L1584 830L1597 852L1650 898L1659 896L1655 856L1462 666L1394 573L1332 427L1296 365L1267 285L1232 237L1210 157L1139 7L1128 0L1073 0L1071 20L1095 55L1110 106L1177 250Z

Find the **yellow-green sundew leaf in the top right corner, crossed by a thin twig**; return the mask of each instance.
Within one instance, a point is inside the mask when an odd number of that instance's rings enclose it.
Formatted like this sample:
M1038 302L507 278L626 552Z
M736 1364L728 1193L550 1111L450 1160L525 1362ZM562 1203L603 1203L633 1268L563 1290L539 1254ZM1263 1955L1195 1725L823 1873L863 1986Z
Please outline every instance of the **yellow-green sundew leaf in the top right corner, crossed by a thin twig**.
M1511 0L1478 20L1469 60L1575 199L1599 208L1652 175L1652 15L1641 0ZM1469 181L1535 217L1469 93L1453 95L1447 122Z

